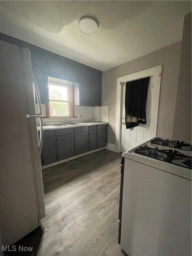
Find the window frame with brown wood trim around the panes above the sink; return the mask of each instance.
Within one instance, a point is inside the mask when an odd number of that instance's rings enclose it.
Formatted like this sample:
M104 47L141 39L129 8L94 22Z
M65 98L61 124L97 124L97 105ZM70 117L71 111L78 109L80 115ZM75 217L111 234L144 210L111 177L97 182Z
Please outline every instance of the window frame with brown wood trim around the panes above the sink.
M55 81L54 81L55 80ZM60 80L58 82L58 80ZM46 117L50 118L61 118L61 117L74 117L75 111L74 111L74 85L68 85L65 83L66 80L63 79L58 79L54 77L48 77L48 96L49 96L49 84L53 84L56 86L61 86L61 87L67 87L68 88L68 101L63 101L63 100L52 100L49 98L49 102L45 104L45 110L46 110ZM70 81L66 81L70 83ZM69 105L69 115L68 116L52 116L51 111L50 111L50 101L55 101L55 102L67 102Z

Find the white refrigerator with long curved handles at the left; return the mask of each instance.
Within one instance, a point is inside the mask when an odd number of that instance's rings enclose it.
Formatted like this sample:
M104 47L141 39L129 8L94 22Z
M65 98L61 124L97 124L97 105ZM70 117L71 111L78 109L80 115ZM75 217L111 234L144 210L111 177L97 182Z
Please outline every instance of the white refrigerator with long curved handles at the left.
M36 118L40 118L40 138ZM4 246L36 229L45 216L42 133L30 51L0 41L0 230Z

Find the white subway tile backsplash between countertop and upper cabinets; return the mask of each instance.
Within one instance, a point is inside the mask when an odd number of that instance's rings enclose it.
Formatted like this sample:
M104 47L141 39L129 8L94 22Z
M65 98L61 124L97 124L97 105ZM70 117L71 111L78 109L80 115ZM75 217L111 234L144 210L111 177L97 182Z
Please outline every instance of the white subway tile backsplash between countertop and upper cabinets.
M75 117L46 117L45 104L41 104L43 114L43 124L48 122L62 122L73 119L77 121L95 121L95 122L108 122L109 121L109 106L103 107L83 107L75 106ZM38 111L38 106L36 104ZM81 116L81 117L80 117ZM37 119L38 120L38 119ZM38 122L38 121L37 121Z

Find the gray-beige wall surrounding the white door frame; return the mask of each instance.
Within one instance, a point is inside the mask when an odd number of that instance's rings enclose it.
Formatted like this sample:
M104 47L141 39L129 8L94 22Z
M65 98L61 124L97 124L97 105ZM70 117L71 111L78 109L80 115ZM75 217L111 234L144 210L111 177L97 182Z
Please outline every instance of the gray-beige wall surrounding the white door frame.
M117 78L162 65L157 135L172 138L181 56L177 42L145 56L114 67L102 74L102 106L109 106L108 143L115 144ZM158 113L157 113L158 114Z

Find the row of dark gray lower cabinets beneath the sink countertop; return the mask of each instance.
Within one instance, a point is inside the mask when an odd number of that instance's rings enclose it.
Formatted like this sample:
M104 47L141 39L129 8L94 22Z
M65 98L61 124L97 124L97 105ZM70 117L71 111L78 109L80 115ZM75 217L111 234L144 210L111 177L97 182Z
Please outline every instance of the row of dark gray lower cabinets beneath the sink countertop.
M50 164L107 145L107 125L43 131L41 165Z

